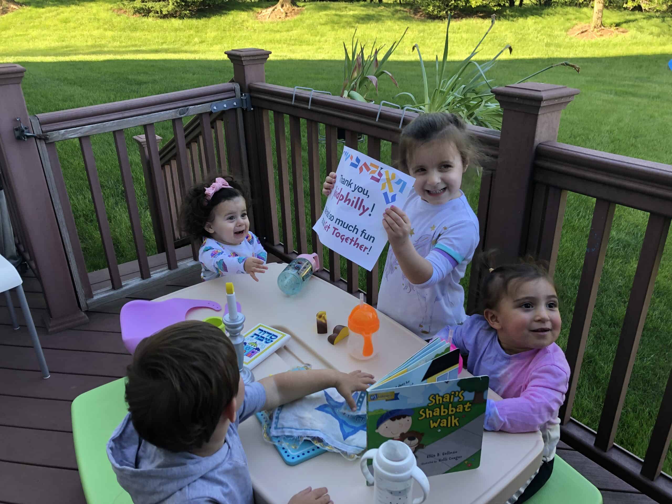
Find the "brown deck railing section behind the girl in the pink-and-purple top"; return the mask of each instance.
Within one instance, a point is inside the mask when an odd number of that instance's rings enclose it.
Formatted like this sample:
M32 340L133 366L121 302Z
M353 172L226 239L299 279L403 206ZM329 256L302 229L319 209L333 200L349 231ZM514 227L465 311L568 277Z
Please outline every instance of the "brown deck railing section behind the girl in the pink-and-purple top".
M672 217L672 166L548 142L538 146L534 180L556 193L569 190L596 199L565 352L572 374L560 411L562 439L657 501L669 501L672 478L661 468L672 434L672 374L643 462L614 444L614 437ZM649 218L595 432L571 412L616 204L649 212Z

